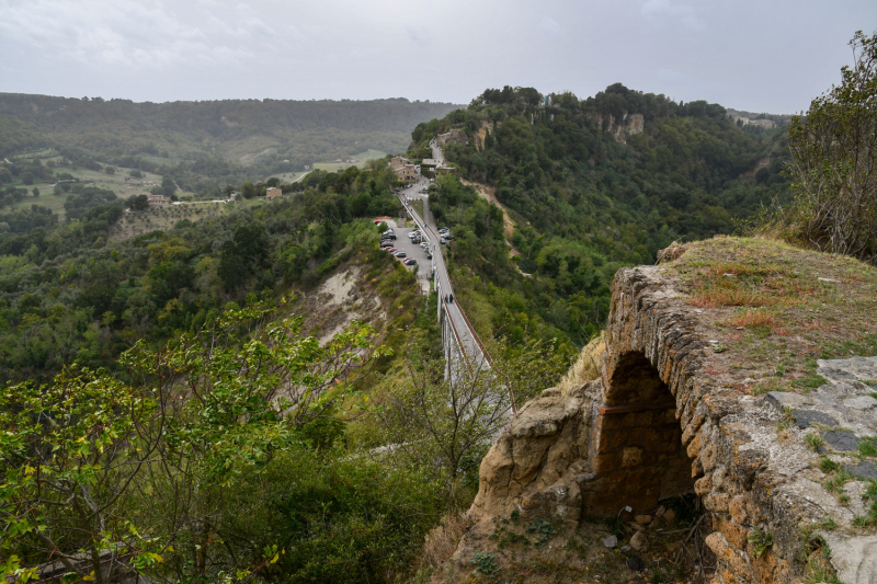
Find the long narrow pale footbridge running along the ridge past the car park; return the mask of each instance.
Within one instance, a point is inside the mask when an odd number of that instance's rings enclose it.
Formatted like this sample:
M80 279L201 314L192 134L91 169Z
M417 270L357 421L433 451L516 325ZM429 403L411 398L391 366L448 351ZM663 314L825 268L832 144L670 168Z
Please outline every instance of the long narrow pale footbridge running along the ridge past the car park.
M409 214L413 217L414 222L417 222L421 229L426 233L426 237L430 239L430 243L434 247L436 251L442 248L438 243L438 227L435 225L434 219L430 216L430 221L426 222L420 216L420 214L411 207L407 203L408 198L423 198L424 199L424 209L428 208L429 205L429 197L421 197L420 190L424 186L429 185L429 181L426 179L421 178L417 183L414 183L411 188L402 190L399 193L400 201L402 204L406 205L408 208ZM425 213L424 213L425 214ZM453 233L452 233L453 234ZM448 295L454 294L454 288L451 285L451 278L447 275L447 267L445 265L445 259L442 253L433 253L433 261L435 262L435 286L440 293L440 301L444 302L445 308L447 309L447 314L451 318L451 322L453 323L454 330L459 337L460 344L463 345L466 355L469 359L470 365L476 367L489 367L488 362L485 358L485 353L481 350L480 343L477 340L477 334L475 331L471 330L469 327L466 318L463 314L463 311L457 305L456 300L453 302L445 301L445 297Z

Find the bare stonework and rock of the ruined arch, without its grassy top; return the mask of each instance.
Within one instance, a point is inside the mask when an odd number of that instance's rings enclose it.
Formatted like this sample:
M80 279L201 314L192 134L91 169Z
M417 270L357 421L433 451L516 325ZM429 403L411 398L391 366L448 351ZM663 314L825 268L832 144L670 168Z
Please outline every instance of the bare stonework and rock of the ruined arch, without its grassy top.
M877 537L856 517L874 513L863 481L877 479L875 453L859 445L877 435L877 357L819 360L824 382L809 392L753 394L758 374L743 362L732 370L716 340L716 319L732 308L697 309L688 288L663 265L618 272L601 378L521 409L482 461L470 517L577 525L695 493L717 582L801 582L821 537L842 582L874 584ZM877 307L859 318L874 334ZM841 467L846 496L825 486L827 469Z

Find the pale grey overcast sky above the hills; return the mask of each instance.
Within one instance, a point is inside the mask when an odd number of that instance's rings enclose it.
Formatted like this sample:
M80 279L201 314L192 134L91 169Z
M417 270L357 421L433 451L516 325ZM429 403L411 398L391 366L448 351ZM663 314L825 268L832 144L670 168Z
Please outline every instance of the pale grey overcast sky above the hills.
M791 113L875 28L875 0L0 0L0 91L468 103L620 81Z

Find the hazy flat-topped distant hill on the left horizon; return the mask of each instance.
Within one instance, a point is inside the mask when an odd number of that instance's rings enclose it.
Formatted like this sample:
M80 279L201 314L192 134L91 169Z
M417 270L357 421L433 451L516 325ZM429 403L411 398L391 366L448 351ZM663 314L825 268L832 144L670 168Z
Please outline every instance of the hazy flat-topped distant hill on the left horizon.
M213 157L275 172L368 149L405 150L417 124L457 107L401 98L135 103L0 93L0 154L60 146L104 160Z

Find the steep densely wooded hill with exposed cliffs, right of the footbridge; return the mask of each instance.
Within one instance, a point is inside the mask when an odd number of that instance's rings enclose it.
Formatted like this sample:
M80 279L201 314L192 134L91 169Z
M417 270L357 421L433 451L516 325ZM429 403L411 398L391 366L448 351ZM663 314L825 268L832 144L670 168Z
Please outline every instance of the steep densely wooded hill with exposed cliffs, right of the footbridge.
M448 131L447 159L494 186L517 224L503 233L501 214L455 180L433 187L433 213L457 228L460 294L494 335L583 344L618 267L653 263L674 240L731 233L788 196L785 128L741 128L719 105L620 84L585 100L553 94L547 106L533 89L488 90L418 126L412 154Z

